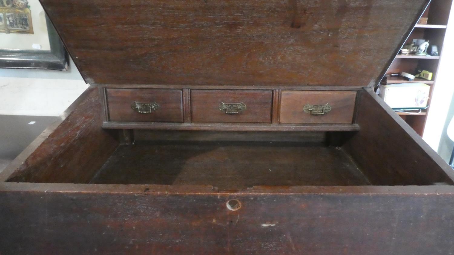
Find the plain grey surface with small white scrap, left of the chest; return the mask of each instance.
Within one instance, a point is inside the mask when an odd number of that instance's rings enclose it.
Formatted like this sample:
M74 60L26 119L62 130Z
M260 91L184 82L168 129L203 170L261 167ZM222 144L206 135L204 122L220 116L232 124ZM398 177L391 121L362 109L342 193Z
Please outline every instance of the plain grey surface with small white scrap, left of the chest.
M0 172L57 118L0 115Z

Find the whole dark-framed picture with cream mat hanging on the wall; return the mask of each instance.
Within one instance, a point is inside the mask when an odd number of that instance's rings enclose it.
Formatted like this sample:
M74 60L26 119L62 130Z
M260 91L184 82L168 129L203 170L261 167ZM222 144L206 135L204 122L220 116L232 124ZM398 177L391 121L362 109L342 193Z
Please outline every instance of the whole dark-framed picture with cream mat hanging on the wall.
M67 70L68 53L39 0L0 0L0 67Z

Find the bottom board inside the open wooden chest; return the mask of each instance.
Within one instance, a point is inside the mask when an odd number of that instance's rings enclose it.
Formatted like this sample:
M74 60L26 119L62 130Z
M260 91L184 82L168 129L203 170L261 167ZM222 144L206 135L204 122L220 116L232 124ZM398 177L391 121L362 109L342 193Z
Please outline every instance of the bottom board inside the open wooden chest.
M322 143L196 141L120 146L90 183L212 185L219 190L369 184L347 155Z

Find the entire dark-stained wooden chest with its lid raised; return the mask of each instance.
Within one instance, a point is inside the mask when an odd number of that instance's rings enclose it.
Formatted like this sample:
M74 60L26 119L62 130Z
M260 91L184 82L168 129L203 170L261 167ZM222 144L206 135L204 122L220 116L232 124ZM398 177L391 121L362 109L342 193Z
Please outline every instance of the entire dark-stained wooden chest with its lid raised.
M42 2L102 89L0 173L0 254L454 250L452 169L360 89L378 82L427 0ZM108 121L106 89L177 90L163 98L178 101L178 123ZM279 124L279 92L294 89L357 95L358 111L349 124ZM216 96L252 99L253 114L219 117ZM201 109L210 122L191 123Z

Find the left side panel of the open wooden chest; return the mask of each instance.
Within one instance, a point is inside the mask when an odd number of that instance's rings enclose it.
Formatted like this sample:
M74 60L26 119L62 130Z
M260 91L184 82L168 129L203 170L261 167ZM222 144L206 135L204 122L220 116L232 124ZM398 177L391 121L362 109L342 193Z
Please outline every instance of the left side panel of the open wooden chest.
M90 87L9 168L0 180L10 182L88 182L117 148L112 130L103 130L99 89Z

